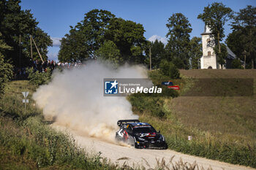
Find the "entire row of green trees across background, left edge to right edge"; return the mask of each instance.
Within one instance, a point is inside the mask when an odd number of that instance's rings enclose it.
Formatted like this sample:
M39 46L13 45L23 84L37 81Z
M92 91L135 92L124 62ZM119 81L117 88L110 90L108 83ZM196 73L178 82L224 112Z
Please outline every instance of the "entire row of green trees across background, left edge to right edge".
M224 26L231 20L233 32L227 36L225 42L238 57L233 66L241 68L241 61L244 61L246 68L255 68L255 7L249 5L239 12L233 12L224 4L214 2L205 7L197 18L211 28L216 45L214 50L222 66L227 57L226 45L222 43L225 37ZM69 34L61 39L59 61L75 62L101 58L116 66L141 63L149 67L151 55L153 69L166 65L167 62L173 63L178 69L198 69L202 56L201 39L190 37L192 27L188 18L181 13L174 13L168 18L166 26L167 45L158 40L148 42L140 23L116 18L107 10L93 9L76 26L70 26ZM0 82L5 82L10 77L5 75L13 70L29 66L31 61L40 60L34 46L31 58L30 36L36 42L43 60L47 60L47 48L53 42L38 27L31 11L22 10L20 0L1 0Z

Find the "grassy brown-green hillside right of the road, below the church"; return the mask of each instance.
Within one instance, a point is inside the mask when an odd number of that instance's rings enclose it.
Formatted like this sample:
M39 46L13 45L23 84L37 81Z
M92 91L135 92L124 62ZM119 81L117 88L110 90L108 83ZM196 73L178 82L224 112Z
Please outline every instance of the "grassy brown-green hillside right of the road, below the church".
M254 79L256 70L180 70L181 93L176 98L132 98L134 112L140 120L161 129L171 150L234 164L255 167L256 164L256 96L182 96L193 88L208 92L203 80L217 79L210 85L216 91L225 88L223 79ZM149 73L153 82L161 74ZM167 77L162 77L167 80ZM246 85L244 85L246 90ZM230 90L227 88L227 90ZM140 104L138 104L140 103ZM157 106L157 107L156 107ZM156 109L157 108L157 109ZM161 113L161 114L159 114ZM192 136L192 141L188 141Z

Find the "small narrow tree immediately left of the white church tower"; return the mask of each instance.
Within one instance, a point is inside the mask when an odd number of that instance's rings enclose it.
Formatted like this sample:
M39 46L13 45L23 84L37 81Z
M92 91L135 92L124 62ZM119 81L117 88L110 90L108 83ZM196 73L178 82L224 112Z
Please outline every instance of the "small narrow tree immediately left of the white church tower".
M199 68L199 59L202 57L202 43L201 38L194 36L189 42L189 59L191 62L192 69Z

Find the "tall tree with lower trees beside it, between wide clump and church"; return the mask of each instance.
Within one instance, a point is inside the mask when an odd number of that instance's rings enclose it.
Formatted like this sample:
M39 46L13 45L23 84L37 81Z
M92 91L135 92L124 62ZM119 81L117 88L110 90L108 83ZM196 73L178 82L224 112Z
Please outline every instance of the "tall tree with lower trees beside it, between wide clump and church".
M190 39L192 28L189 20L181 13L173 14L166 24L167 45L156 40L150 43L152 68L157 69L162 63L172 62L178 69L198 69L202 56L201 38ZM146 63L149 58L147 58Z

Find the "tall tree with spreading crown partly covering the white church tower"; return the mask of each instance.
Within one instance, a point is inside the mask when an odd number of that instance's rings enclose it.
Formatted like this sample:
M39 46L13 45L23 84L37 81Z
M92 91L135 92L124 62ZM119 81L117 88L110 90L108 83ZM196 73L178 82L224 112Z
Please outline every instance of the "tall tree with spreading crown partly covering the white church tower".
M203 9L203 13L197 18L203 20L204 23L211 29L216 45L218 47L217 58L221 55L221 44L224 34L224 25L232 17L233 11L224 4L214 2ZM220 59L221 60L221 59ZM221 64L222 65L222 64Z

